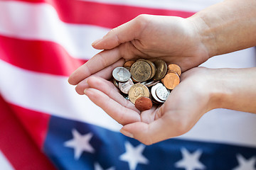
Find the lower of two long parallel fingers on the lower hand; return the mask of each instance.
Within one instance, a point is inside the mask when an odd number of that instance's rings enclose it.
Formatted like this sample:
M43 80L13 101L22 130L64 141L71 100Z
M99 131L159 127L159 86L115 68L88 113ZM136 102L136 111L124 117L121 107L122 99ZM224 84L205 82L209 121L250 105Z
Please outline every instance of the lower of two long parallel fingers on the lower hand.
M103 111L105 111L108 115L110 115L110 117L122 125L140 121L140 116L137 112L132 111L129 108L125 108L104 94L102 91L89 88L85 90L85 94L93 103L95 103L97 106L100 106Z

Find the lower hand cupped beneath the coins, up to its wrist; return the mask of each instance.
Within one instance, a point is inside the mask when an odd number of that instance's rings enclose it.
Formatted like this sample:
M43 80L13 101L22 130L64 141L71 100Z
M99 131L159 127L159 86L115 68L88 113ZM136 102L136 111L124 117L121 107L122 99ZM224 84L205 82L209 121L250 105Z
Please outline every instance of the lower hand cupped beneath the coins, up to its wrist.
M110 81L89 77L85 94L118 123L124 135L151 145L188 132L201 116L216 108L211 69L196 67L181 74L181 83L161 106L140 113L134 104L119 94Z

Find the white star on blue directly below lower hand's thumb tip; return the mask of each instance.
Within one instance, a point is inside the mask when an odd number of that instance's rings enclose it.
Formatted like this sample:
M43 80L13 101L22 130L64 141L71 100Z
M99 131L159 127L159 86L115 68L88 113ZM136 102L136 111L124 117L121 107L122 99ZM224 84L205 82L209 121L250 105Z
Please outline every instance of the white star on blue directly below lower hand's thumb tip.
M130 170L136 169L137 164L148 164L149 160L142 155L145 145L133 147L129 142L125 142L124 146L127 152L120 155L119 159L128 162Z

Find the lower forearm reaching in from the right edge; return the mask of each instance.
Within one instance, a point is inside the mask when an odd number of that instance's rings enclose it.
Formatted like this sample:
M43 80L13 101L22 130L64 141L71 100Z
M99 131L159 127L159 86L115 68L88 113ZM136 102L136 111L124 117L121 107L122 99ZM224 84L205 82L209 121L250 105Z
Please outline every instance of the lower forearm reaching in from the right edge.
M256 67L211 69L215 108L256 113ZM214 96L213 95L213 96Z

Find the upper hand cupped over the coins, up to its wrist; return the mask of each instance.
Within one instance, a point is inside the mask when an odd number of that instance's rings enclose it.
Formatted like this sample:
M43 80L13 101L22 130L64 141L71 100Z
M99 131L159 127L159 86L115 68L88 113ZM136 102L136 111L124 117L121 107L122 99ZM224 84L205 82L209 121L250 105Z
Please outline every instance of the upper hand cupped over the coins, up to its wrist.
M68 81L78 84L76 91L83 94L87 88L87 77L97 75L110 79L114 67L139 58L175 63L184 72L209 57L197 28L189 18L138 16L93 42L93 47L103 51L78 68Z

